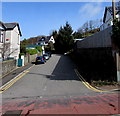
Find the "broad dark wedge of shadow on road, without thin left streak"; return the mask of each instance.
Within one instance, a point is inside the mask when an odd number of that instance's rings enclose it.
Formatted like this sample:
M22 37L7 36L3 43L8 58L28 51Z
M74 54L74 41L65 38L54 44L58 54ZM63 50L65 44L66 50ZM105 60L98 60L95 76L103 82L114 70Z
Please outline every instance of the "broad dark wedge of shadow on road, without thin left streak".
M60 55L60 54L59 54ZM60 59L52 72L51 80L79 80L74 69L76 68L69 56L60 55ZM80 81L80 80L79 80Z

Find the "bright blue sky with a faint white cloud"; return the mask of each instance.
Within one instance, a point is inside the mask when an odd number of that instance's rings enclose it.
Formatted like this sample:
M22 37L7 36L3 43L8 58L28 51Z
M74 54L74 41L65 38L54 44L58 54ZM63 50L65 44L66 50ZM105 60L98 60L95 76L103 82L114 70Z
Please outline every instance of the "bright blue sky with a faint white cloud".
M17 22L21 40L49 36L68 23L77 31L86 21L102 19L111 2L2 2L2 22Z

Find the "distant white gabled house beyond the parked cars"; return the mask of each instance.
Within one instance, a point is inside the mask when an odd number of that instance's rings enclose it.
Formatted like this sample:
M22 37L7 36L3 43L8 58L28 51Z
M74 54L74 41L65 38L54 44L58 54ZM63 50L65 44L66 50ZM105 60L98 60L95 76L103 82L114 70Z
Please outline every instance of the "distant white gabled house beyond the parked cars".
M42 46L42 54L45 54L45 46L48 46L49 43L54 44L55 40L53 38L53 36L47 36L47 37L42 37L38 40L38 42L36 42L36 45L41 45Z

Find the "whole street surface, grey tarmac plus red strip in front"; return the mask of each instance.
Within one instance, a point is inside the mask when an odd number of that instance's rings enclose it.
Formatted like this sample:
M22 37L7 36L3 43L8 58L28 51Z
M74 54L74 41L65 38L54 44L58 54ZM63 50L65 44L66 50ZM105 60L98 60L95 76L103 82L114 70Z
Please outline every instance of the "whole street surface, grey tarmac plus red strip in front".
M118 93L88 89L77 76L75 69L75 64L68 56L56 54L52 55L45 64L33 65L15 83L3 91L3 112L15 109L27 112L34 109L31 114L59 112L63 114L65 112L99 114L102 113L101 111L103 114L118 113ZM56 105L60 106L57 108ZM74 106L79 111L76 112ZM99 111L94 112L93 107ZM51 108L53 109L50 110ZM69 110L66 111L66 108ZM88 112L85 108L88 108ZM55 111L58 109L61 110Z

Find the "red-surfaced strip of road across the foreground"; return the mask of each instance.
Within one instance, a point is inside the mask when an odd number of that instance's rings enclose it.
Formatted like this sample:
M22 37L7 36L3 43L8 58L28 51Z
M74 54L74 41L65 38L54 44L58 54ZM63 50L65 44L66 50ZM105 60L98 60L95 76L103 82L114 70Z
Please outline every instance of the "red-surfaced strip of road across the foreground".
M6 101L3 104L3 116L31 116L48 114L86 114L87 115L115 115L120 114L118 99L120 94L98 96L84 96L59 99L36 99L24 101ZM7 115L9 114L9 115ZM57 115L57 116L59 116Z

